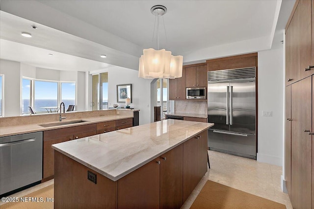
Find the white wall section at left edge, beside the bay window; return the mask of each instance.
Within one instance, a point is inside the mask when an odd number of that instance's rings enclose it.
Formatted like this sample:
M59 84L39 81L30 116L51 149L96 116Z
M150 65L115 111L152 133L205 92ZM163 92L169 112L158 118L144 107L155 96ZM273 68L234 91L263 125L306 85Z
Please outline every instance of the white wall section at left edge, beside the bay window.
M0 74L4 75L3 116L20 115L20 63L1 59Z

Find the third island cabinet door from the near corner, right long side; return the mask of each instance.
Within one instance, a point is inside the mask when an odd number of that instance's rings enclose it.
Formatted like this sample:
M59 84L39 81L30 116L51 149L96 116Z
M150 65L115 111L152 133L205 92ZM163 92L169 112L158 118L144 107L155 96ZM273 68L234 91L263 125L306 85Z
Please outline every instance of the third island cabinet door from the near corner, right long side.
M183 143L183 203L199 182L197 169L197 138Z

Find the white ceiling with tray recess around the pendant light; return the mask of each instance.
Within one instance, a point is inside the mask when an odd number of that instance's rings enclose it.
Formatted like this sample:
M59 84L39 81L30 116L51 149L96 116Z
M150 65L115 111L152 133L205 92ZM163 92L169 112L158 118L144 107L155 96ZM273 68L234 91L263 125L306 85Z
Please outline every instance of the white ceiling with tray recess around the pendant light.
M183 55L184 62L219 56L215 50L234 43L251 45L249 51L257 52L271 47L278 36L275 29L284 29L294 1L1 0L0 38L5 40L0 57L58 70L93 71L112 65L137 69L142 50L157 48L150 8L158 4L168 9L163 16L166 36L162 19L159 26L160 49ZM22 31L32 38L22 37ZM56 62L46 58L49 51L58 54L53 56ZM85 59L78 61L80 57Z

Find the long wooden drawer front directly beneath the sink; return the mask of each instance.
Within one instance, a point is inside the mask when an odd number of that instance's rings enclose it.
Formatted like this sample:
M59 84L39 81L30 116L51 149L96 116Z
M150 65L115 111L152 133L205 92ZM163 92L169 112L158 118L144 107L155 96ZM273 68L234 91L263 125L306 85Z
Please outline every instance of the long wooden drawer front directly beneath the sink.
M82 126L74 126L74 127L69 127L69 128L44 131L43 135L44 135L44 141L45 141L49 139L59 138L59 137L68 136L68 135L75 135L79 133L86 133L90 131L94 131L96 134L96 124L87 124L87 125L82 125Z

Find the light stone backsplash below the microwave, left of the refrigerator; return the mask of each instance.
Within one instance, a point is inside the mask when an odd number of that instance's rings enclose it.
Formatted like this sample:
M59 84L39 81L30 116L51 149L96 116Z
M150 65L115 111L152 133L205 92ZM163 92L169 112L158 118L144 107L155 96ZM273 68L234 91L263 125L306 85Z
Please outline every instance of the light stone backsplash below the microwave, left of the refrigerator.
M175 112L207 114L207 101L177 100Z

